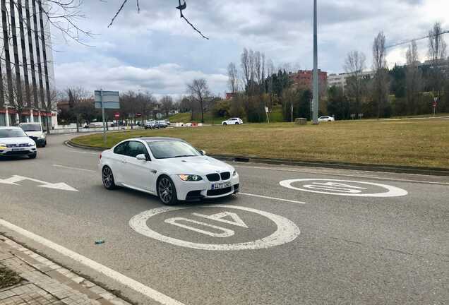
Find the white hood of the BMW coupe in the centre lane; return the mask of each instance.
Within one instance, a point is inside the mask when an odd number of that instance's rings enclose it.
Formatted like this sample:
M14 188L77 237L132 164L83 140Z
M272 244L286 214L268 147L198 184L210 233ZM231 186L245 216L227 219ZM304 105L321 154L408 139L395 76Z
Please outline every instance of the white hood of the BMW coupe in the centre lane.
M170 174L197 174L206 175L215 172L233 172L234 167L226 163L207 156L179 157L172 159L162 159L161 164L169 169Z

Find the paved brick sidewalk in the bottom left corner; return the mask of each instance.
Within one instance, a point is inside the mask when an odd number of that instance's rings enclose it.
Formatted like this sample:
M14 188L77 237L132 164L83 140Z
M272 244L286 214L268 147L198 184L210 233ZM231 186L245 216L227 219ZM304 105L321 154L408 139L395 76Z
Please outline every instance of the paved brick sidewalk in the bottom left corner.
M130 305L0 234L0 267L23 279L0 288L0 305Z

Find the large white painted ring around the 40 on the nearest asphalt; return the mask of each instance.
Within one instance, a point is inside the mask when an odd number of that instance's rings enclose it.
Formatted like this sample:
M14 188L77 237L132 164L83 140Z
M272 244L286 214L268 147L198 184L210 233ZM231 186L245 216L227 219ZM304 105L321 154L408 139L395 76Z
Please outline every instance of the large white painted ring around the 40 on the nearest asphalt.
M272 213L264 212L261 210L256 210L253 208L241 207L238 205L201 205L200 208L224 208L224 209L233 209L233 210L244 210L246 212L256 213L258 215L262 215L263 217L267 217L269 220L273 221L277 226L276 231L268 237L264 237L262 239L258 239L255 241L249 241L244 243L237 244L199 244L193 243L191 241L184 241L182 239L176 239L173 237L167 237L163 234L155 232L150 229L147 225L147 221L150 217L155 215L160 215L162 213L167 213L175 210L186 210L189 208L198 208L198 206L189 206L189 207L162 207L155 208L152 210L147 210L143 213L135 215L129 220L130 227L146 237L150 237L152 239L157 239L159 241L164 241L168 244L174 244L175 246L183 246L192 249L199 250L208 250L208 251L238 251L238 250L254 250L254 249L265 249L273 246L280 246L282 244L287 244L294 239L296 239L301 233L297 225L294 222L288 220L285 217L280 215L275 215ZM212 219L212 218L211 218ZM172 218L176 220L176 218ZM165 221L167 222L167 220ZM228 222L225 220L225 222ZM215 227L209 225L210 227ZM182 225L179 225L182 227ZM232 231L232 230L229 230Z

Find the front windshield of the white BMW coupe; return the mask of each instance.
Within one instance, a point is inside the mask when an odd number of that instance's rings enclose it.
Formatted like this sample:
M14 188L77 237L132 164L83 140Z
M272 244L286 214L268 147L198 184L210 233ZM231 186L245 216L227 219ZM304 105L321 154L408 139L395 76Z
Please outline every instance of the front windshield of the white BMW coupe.
M196 157L201 155L198 150L191 147L185 142L176 141L176 140L164 140L151 142L148 141L148 146L150 146L150 150L152 155L156 159L169 159L175 157Z

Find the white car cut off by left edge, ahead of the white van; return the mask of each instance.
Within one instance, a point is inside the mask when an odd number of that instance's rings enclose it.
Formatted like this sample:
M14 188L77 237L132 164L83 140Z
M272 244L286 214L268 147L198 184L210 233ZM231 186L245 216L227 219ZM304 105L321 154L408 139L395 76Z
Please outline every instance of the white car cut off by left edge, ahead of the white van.
M0 157L27 155L37 156L36 143L20 127L0 127Z

